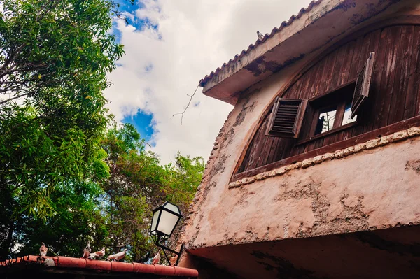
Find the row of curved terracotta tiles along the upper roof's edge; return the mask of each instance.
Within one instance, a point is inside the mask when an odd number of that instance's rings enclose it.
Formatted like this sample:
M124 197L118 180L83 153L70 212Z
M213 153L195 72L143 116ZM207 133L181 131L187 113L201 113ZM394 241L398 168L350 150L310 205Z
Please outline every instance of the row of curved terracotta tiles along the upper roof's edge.
M280 27L274 27L274 29L272 29L270 34L265 34L264 38L259 39L255 42L255 44L252 44L248 46L248 49L246 50L242 50L242 52L239 55L235 55L235 57L233 59L230 59L228 61L228 63L223 63L223 65L221 67L218 67L216 69L216 71L212 71L209 75L205 76L204 78L202 78L202 80L200 80L200 86L204 87L204 85L211 80L214 76L217 76L218 73L224 69L227 66L230 66L233 62L237 62L238 59L241 59L241 57L243 57L244 55L246 55L248 52L250 52L253 48L257 47L258 45L260 45L261 43L264 43L265 41L267 41L268 38L271 38L272 36L274 36L274 34L279 33L284 27L290 25L293 21L295 21L296 19L300 18L304 13L309 12L314 6L318 5L319 3L321 3L322 0L314 0L311 1L311 3L309 3L309 6L307 8L301 8L299 13L297 13L297 15L292 15L290 17L290 19L288 20L288 22L284 21L280 24Z

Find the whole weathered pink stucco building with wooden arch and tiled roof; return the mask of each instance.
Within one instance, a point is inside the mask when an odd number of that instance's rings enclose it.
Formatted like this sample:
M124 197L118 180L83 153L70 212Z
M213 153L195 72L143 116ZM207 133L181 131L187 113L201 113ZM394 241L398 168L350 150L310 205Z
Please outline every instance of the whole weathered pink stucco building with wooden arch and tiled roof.
M420 1L313 1L200 81L235 106L188 217L199 278L420 277Z

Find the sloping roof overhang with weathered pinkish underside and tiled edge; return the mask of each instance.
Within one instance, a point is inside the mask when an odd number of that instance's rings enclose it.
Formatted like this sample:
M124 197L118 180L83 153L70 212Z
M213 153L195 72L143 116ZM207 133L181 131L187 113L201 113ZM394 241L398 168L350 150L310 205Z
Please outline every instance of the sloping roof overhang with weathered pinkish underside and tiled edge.
M395 3L400 3L394 5ZM203 93L235 105L260 80L356 31L365 22L394 13L411 0L318 0L274 28L228 64L200 80Z

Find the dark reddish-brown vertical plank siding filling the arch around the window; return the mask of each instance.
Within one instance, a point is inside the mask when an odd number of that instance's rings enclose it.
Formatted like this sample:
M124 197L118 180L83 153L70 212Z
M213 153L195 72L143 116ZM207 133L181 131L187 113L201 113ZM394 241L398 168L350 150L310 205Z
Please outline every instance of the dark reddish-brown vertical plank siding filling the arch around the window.
M298 140L265 136L269 113L246 150L238 173L326 145L365 134L419 114L420 26L396 25L372 31L341 45L312 66L283 94L288 99L310 99L356 80L370 52L376 52L368 105L358 124L314 141L310 136L313 111L308 106Z

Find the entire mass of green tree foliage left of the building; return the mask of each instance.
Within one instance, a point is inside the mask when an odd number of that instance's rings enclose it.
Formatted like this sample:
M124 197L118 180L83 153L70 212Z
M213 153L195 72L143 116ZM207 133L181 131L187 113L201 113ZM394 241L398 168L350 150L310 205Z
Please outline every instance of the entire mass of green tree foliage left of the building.
M123 55L108 33L117 7L1 1L0 259L36 255L41 242L80 257L90 241L146 262L151 210L172 201L186 213L193 199L202 158L162 166L132 125L106 129L106 73Z

